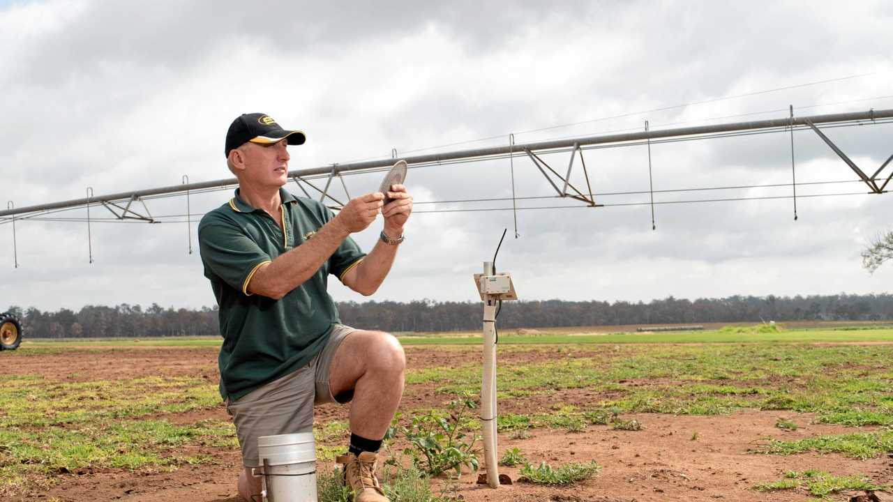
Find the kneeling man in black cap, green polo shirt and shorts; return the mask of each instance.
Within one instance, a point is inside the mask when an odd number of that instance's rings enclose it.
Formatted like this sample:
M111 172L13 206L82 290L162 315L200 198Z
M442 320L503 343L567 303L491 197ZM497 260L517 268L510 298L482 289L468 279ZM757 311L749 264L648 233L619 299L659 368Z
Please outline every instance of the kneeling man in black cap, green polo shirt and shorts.
M283 130L263 113L230 125L227 165L235 197L198 226L204 276L220 305L221 396L236 424L244 469L238 493L260 499L257 438L312 431L313 405L346 403L351 439L346 483L356 502L385 502L375 477L376 452L403 395L405 356L388 333L340 323L327 292L328 274L369 296L379 288L403 241L413 197L403 185L350 200L338 213L294 197L288 145L305 135ZM350 238L384 217L368 255Z

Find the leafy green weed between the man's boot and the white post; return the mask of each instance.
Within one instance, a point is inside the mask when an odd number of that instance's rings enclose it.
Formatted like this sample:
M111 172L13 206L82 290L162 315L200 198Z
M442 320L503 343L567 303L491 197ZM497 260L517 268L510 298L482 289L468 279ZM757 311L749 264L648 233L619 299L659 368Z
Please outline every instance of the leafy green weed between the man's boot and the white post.
M474 443L480 436L471 428L470 411L477 403L464 394L450 401L447 413L431 410L428 414L416 414L409 427L400 427L405 438L414 448L405 448L413 466L423 473L437 476L447 471L462 475L463 466L478 470L478 457L474 455Z

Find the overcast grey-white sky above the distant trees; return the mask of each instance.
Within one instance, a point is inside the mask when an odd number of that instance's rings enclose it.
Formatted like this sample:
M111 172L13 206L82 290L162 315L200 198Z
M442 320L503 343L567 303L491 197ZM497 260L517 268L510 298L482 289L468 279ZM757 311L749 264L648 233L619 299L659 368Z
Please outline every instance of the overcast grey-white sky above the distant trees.
M174 185L184 174L217 180L229 175L227 127L251 112L305 130L305 146L289 148L290 168L301 169L387 158L391 148L412 155L505 145L512 132L523 143L640 130L645 120L661 129L777 118L789 105L797 115L893 108L891 25L893 4L882 1L0 0L0 174L16 206L84 197L88 187L99 196ZM617 115L625 116L597 120ZM893 124L827 132L868 172L893 153ZM480 138L492 139L468 142ZM812 132L795 134L795 151L798 182L850 181L798 187L799 195L866 191ZM791 180L787 133L651 153L655 190ZM645 146L585 155L595 192L647 191ZM566 169L566 153L544 158ZM577 166L573 180L585 185ZM551 195L529 160L513 168L518 197ZM355 196L379 178L344 180ZM656 230L648 205L617 205L647 202L647 193L597 196L609 205L598 209L532 199L519 206L569 207L518 211L515 239L511 211L421 213L511 207L423 204L511 197L508 160L415 169L406 184L420 213L372 299L472 300L472 273L506 227L497 265L524 299L885 293L893 282L893 264L872 275L859 256L891 227L889 195L799 198L797 222L790 199L656 205ZM790 193L657 193L655 201ZM339 184L334 194L344 197ZM190 197L192 255L186 222L95 222L93 264L86 223L16 222L15 269L12 226L0 225L0 308L213 305L196 214L230 197ZM153 214L180 214L187 200L147 204ZM110 216L91 209L92 218ZM355 238L368 250L380 228L375 222ZM365 299L330 284L338 300Z

